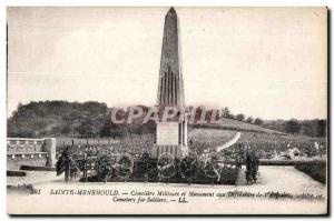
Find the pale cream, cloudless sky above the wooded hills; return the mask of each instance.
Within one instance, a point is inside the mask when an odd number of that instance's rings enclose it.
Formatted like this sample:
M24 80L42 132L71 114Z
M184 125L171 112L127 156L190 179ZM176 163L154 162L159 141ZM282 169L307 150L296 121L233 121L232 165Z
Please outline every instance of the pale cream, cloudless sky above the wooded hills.
M8 8L8 115L30 101L154 106L168 8ZM187 106L327 115L325 8L176 8Z

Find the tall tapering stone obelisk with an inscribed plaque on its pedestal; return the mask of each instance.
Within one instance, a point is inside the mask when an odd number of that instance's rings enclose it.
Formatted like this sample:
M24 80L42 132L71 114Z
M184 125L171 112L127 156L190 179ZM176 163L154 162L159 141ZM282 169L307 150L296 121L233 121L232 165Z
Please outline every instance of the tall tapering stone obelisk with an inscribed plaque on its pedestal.
M159 70L157 106L161 109L185 108L184 80L181 73L179 22L171 7L165 17L161 60ZM175 120L157 123L153 157L169 153L176 159L188 154L187 122Z

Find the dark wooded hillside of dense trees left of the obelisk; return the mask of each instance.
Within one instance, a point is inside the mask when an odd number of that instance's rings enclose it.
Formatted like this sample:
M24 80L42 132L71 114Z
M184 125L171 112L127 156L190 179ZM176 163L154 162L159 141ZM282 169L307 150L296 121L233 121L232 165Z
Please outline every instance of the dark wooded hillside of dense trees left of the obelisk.
M12 117L7 120L10 125L8 134L40 137L41 131L45 137L60 133L78 135L77 133L87 134L89 131L95 134L102 128L107 111L107 104L95 101L78 103L56 100L19 103Z

